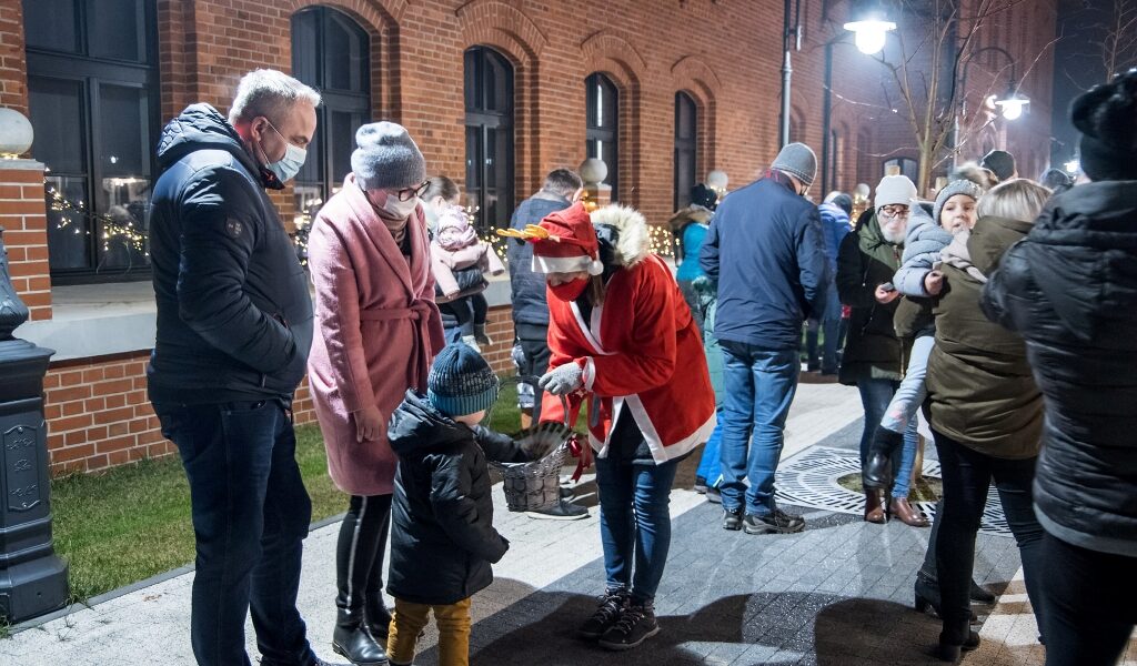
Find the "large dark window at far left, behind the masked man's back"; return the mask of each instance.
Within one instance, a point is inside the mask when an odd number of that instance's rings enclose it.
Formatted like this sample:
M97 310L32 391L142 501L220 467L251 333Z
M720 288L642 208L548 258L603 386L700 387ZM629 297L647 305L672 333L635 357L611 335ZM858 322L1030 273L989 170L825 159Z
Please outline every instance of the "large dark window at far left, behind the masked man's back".
M160 123L155 5L23 2L32 155L48 167L56 284L149 276L144 211Z

